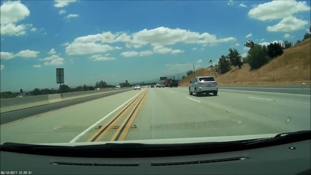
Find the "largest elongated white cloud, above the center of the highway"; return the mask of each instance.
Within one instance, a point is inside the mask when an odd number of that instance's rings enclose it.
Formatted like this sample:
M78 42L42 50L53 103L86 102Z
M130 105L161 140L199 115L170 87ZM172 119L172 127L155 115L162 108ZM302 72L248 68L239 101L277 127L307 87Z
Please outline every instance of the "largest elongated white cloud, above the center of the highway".
M173 45L178 42L186 44L206 44L206 43L223 43L235 41L234 37L217 39L216 35L208 33L190 32L183 29L170 29L167 27L158 27L151 30L141 30L132 34L132 43L136 45L164 46Z

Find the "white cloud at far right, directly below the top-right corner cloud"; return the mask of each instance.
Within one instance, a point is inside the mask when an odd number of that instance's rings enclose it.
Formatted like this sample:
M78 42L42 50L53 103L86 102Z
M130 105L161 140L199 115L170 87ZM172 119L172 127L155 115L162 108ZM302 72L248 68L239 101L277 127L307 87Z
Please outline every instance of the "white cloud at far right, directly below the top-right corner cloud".
M269 32L293 32L303 29L308 24L307 20L297 19L293 16L282 19L278 24L274 26L268 26Z

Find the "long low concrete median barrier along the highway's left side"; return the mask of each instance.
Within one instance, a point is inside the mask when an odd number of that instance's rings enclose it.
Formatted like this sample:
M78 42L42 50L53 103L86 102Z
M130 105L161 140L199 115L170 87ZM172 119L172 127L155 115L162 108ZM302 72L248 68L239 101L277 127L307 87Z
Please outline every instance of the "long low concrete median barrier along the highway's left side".
M113 92L113 91L122 91L125 89L129 89L129 88L68 92L68 93L63 93L63 98L61 98L61 94L48 94L48 95L37 95L37 96L30 96L30 97L1 99L0 100L0 113L28 108L28 107L34 107L38 105L52 104L52 103L57 103L57 102L67 101L67 100L72 100L72 99L77 99L77 98L84 98L88 96L99 95L99 94Z

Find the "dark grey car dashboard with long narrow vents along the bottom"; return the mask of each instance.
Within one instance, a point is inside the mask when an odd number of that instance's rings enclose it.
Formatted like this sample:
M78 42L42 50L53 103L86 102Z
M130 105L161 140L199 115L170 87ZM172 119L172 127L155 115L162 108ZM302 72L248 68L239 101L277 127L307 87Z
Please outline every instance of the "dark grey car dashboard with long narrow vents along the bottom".
M135 158L0 152L1 175L310 175L311 140L224 153ZM99 155L100 156L100 155Z

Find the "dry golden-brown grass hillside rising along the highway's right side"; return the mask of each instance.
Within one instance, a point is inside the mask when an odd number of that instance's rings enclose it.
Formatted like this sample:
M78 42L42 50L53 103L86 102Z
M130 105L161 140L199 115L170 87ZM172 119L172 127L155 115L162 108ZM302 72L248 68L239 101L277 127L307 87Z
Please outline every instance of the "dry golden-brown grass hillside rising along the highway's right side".
M302 85L311 84L311 40L284 50L281 56L271 60L258 70L250 70L248 64L242 69L232 68L218 75L219 85ZM214 76L210 68L202 68L195 76ZM180 81L181 86L189 85L193 74Z

